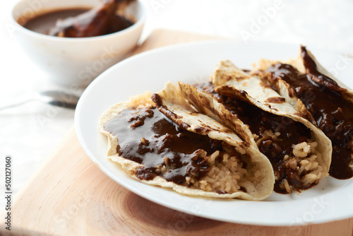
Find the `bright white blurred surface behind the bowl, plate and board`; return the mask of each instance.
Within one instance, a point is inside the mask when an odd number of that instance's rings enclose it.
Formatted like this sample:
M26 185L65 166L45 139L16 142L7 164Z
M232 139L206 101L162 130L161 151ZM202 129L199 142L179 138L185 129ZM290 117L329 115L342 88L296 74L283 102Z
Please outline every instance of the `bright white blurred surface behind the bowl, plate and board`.
M148 20L142 39L155 28L165 28L237 39L247 36L247 40L291 42L353 55L352 0L143 2L148 7ZM0 105L24 93L61 88L49 82L47 75L32 64L8 30L15 3L2 1L0 8ZM277 10L273 11L275 6ZM0 189L4 189L5 155L13 158L13 191L17 192L72 125L72 110L38 102L0 111L3 175ZM2 208L4 200L0 199Z

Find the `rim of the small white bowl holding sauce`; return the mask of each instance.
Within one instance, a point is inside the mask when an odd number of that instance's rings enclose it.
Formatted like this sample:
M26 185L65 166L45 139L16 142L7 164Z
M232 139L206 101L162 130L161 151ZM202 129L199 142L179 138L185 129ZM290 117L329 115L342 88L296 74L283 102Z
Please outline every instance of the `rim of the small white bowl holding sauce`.
M86 42L86 41L92 42L95 40L105 40L105 39L109 39L109 38L119 37L120 35L124 35L126 33L129 33L131 31L136 30L136 29L140 28L141 26L143 26L143 23L145 23L145 19L146 19L146 15L147 15L147 9L146 9L145 4L143 4L143 2L141 0L137 0L136 4L138 4L138 6L140 6L140 8L142 10L141 11L142 14L140 16L140 19L138 19L136 21L136 23L133 23L133 25L129 26L128 28L126 28L124 30L119 30L118 32L110 33L108 35L99 35L99 36L93 36L93 37L56 37L56 36L52 36L52 35L44 35L42 33L37 33L32 30L28 30L27 28L24 28L23 25L20 25L17 22L17 20L13 17L13 12L15 11L15 8L18 6L18 4L20 4L23 1L25 1L25 0L18 1L11 8L11 20L15 24L16 29L22 30L24 33L28 33L28 34L33 35L35 37L42 37L43 40L52 40L52 41L56 41L56 42Z

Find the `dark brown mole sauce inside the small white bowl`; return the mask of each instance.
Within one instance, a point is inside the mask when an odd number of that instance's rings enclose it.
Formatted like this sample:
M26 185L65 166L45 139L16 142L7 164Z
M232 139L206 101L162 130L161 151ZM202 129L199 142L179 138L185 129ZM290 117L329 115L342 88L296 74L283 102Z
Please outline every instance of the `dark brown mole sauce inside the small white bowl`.
M56 30L63 30L65 37L92 37L115 33L133 25L131 20L124 18L124 16L118 15L113 15L109 18L108 26L100 25L99 18L102 18L102 16L97 15L95 12L89 12L89 10L90 8L69 8L49 11L47 13L42 13L38 16L35 16L30 20L26 20L26 22L23 24L23 27L44 35L56 36ZM81 33L78 33L74 26L52 30L56 24L56 20L76 17L82 13L90 14L90 16L87 17L86 23L90 23L90 20L94 18L97 19L91 23L92 25L87 25L83 20L80 20L80 28L84 29L81 30ZM73 18L69 23L72 25L75 24ZM104 26L104 30L100 31L102 26Z

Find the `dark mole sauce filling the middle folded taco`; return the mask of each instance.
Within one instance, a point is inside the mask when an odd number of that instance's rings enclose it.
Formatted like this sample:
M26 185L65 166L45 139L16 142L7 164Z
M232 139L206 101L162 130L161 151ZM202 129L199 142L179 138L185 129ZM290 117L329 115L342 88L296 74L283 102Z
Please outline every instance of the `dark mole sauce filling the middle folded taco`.
M295 189L307 189L311 187L303 186L300 180L307 172L304 171L298 176L297 172L286 167L286 161L283 161L285 155L289 155L289 158L294 156L292 153L292 144L301 143L311 138L311 131L306 128L304 124L294 122L287 117L280 117L265 112L255 105L251 105L242 100L220 95L215 92L215 87L212 83L202 83L195 86L198 89L205 90L215 95L217 100L225 105L227 110L232 112L232 114L238 117L244 124L248 124L251 132L258 135L259 139L263 138L263 136L267 136L265 130L270 129L273 133L280 132L277 141L268 137L263 139L258 145L261 153L270 160L275 176L278 177L274 188L277 193L287 194L286 189L280 187L280 183L282 183L283 179L287 179L289 185Z

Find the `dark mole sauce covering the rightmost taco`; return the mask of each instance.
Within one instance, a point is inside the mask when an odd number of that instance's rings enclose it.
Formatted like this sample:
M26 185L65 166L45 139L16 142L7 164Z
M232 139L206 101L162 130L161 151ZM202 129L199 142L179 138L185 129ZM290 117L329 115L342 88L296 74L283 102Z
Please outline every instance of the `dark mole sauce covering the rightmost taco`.
M330 175L337 179L349 179L353 177L353 170L349 167L353 153L353 106L342 97L339 92L342 88L335 81L316 70L315 61L309 57L306 49L301 52L301 57L305 61L306 73L281 63L270 66L265 73L271 73L270 83L275 90L277 79L286 81L294 88L295 94L311 112L318 127L332 142Z

